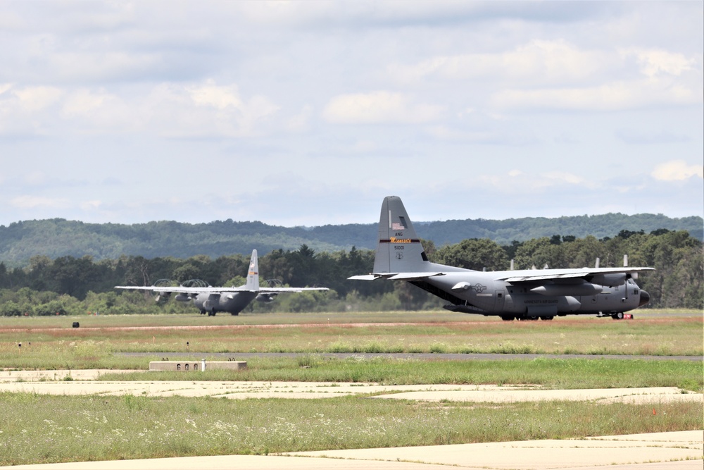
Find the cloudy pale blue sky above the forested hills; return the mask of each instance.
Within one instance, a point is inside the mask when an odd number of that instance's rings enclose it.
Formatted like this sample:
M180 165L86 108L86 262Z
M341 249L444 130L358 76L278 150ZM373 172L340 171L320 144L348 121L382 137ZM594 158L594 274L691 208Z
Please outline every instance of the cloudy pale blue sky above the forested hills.
M7 1L0 225L704 215L702 1Z

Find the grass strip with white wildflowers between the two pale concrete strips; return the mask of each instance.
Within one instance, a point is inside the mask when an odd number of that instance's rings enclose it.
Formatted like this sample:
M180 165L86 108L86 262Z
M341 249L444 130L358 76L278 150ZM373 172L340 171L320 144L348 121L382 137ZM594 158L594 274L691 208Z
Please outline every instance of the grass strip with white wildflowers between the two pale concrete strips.
M701 428L701 406L0 394L0 465L567 439ZM656 407L658 413L653 415Z

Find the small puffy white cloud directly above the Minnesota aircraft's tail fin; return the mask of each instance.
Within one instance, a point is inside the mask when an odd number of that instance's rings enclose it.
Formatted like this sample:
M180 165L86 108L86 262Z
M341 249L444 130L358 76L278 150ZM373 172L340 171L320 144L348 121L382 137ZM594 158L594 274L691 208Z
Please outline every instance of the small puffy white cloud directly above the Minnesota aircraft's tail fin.
M333 97L323 110L331 123L427 123L441 115L440 106L415 104L402 93L371 92Z

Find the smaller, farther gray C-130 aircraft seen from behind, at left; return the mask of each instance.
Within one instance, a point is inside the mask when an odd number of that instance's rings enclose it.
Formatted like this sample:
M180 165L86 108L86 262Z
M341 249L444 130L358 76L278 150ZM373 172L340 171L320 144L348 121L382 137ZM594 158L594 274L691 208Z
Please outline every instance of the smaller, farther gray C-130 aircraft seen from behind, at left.
M249 261L249 271L247 271L247 282L239 287L168 287L158 285L117 285L115 289L151 290L159 295L167 297L176 292L174 297L180 302L193 300L193 304L198 307L201 314L215 316L218 311L225 311L232 315L238 315L249 305L252 300L260 302L271 302L274 297L287 292L303 292L306 290L328 290L327 287L259 287L259 262L257 260L257 250L252 250L252 258Z

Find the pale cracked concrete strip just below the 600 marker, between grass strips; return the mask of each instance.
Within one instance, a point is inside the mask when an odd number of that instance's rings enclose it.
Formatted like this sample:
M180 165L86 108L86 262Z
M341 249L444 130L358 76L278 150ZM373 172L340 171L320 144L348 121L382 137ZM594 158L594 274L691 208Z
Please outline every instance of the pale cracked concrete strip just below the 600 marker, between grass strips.
M63 380L69 377L71 381ZM701 393L677 387L543 390L538 385L377 385L332 382L237 381L100 381L100 371L23 371L0 373L0 391L51 395L144 395L163 397L328 398L374 394L379 400L463 402L593 401L661 403L693 401L704 404Z

